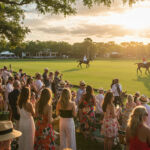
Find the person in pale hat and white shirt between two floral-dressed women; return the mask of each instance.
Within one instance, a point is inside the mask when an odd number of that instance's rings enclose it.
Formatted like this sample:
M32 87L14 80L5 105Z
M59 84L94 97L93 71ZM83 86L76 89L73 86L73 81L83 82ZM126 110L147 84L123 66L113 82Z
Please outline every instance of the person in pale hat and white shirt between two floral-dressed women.
M104 89L100 88L99 94L96 95L96 114L103 113L103 110L102 110L103 101L104 101Z

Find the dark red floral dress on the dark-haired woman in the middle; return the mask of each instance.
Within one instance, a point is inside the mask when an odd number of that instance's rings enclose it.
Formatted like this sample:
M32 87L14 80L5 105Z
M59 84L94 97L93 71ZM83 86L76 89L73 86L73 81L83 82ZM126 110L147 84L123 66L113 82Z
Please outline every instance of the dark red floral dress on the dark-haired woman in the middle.
M85 96L83 96L82 99L81 130L92 132L95 130L94 98L91 98L89 102L85 100Z

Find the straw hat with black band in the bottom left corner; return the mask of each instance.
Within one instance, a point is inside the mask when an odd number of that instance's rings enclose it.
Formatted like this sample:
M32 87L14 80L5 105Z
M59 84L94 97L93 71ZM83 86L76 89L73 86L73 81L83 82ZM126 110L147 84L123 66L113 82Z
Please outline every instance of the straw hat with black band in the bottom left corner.
M13 129L11 121L0 121L0 141L6 141L21 136L20 131Z

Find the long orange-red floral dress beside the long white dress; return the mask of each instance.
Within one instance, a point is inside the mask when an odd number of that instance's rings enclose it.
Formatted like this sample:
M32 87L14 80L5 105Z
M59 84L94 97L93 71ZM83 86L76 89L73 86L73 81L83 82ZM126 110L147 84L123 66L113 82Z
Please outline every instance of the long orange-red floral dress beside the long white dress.
M34 150L55 150L54 131L46 115L37 118Z

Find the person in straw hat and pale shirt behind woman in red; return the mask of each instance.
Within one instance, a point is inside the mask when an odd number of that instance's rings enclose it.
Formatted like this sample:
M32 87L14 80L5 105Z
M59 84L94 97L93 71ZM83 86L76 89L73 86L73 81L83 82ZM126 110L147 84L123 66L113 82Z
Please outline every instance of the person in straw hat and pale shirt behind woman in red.
M148 103L148 98L144 95L142 95L140 97L140 102L141 102L141 105L144 106L148 112L148 119L147 119L147 125L150 127L150 106L147 104Z

